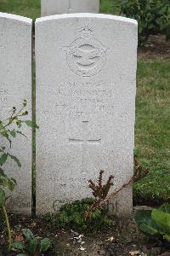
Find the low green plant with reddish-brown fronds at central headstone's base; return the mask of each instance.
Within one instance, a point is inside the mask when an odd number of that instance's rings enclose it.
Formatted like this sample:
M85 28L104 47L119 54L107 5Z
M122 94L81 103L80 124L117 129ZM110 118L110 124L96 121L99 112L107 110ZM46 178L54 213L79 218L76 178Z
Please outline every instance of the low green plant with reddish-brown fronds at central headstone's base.
M100 171L97 184L91 179L88 181L89 188L93 190L94 198L86 198L82 199L82 201L65 204L60 207L57 214L48 213L45 218L57 229L76 229L88 234L94 234L99 230L114 227L116 222L114 219L108 217L108 210L105 204L108 204L129 183L146 176L148 172L148 169L143 170L137 161L135 161L133 177L127 183L124 183L120 189L108 195L111 186L113 186L112 179L114 177L111 175L107 182L103 184L104 171Z

